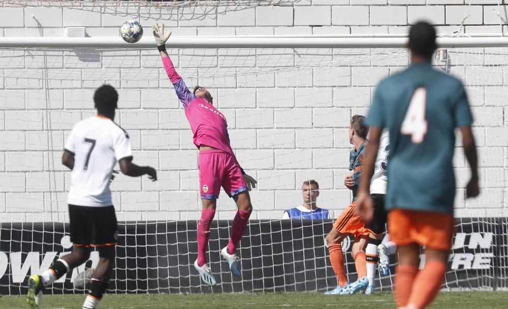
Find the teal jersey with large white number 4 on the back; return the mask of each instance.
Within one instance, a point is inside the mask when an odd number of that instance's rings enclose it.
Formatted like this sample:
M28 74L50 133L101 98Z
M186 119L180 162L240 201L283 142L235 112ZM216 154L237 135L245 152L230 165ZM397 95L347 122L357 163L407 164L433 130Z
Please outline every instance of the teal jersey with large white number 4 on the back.
M430 63L379 83L365 124L390 132L387 210L453 214L455 128L471 123L462 82Z

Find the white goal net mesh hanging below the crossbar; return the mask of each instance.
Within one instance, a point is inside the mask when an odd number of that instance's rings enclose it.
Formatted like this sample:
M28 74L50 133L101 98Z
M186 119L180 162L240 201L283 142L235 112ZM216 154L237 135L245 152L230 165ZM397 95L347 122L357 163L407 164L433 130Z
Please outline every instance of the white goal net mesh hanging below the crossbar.
M302 203L300 186L310 179L320 183L317 204L331 210L330 219L350 203L350 191L343 185L351 149L350 118L366 113L380 79L406 67L407 52L371 48L168 52L189 87L199 84L210 90L214 104L228 119L239 162L259 182L251 192L254 212L240 243L242 279L232 278L219 259L218 251L228 241L229 221L212 225L209 258L220 284L211 290L202 286L190 265L197 253L195 229L201 209L197 150L155 49L3 48L0 274L3 262L6 270L0 288L23 291L27 274L46 269L57 255L70 251L68 230L61 224L68 221L70 172L61 164L61 153L72 126L94 114L93 91L104 83L119 92L115 121L131 136L134 161L154 166L159 179L152 183L120 174L111 183L124 241L117 247L110 291L316 291L336 285L323 239L330 220L280 218L284 210ZM481 166L482 194L465 201L469 174L459 136L454 158L456 214L475 219L457 223L463 235L455 238L448 288L507 287L506 220L493 218L505 216L508 193L507 59L505 48L436 53L434 64L466 85ZM216 219L233 218L236 207L224 193L217 206ZM97 256L92 255L86 266L94 263ZM72 277L83 269L84 265ZM346 270L356 279L353 260L347 260ZM71 275L67 283L70 280ZM392 277L386 277L377 286L391 289L391 284ZM52 289L72 291L77 290L66 284Z

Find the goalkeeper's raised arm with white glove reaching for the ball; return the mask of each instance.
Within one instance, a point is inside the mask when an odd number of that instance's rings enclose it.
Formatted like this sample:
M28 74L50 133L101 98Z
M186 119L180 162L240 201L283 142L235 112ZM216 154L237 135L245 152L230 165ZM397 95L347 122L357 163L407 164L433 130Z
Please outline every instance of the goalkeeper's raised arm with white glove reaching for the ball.
M159 50L162 58L162 62L164 64L164 68L166 70L166 74L169 77L169 80L175 87L176 95L182 102L184 108L187 108L187 105L196 98L194 93L190 92L187 88L187 85L183 82L183 79L176 73L175 66L173 61L168 55L166 51L166 41L168 41L171 36L171 31L164 33L164 25L160 27L158 24L154 24L152 26L153 29L153 37L155 38L155 42L157 42L157 49Z

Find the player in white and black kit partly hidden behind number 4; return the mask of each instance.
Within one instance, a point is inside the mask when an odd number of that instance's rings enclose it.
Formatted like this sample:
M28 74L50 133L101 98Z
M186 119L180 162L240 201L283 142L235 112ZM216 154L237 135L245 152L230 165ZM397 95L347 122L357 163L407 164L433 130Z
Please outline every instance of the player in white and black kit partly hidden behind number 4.
M379 142L379 151L377 152L376 163L374 167L374 176L370 182L370 195L374 201L374 217L372 222L366 224L371 233L369 235L369 244L365 248L367 260L367 278L369 285L365 294L374 292L374 278L376 266L379 263L379 272L382 276L387 276L390 270L389 255L394 254L397 247L393 242L381 244L383 232L385 231L387 212L385 211L385 195L388 183L388 157L390 149L390 136L388 130L383 130Z

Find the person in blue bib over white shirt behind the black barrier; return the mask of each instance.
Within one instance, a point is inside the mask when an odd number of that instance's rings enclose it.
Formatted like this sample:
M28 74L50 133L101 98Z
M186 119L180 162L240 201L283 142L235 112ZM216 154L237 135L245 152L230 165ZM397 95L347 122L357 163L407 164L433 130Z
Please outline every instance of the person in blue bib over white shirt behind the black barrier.
M302 196L303 204L285 211L282 219L328 219L328 210L316 206L316 199L319 196L317 181L304 181Z

